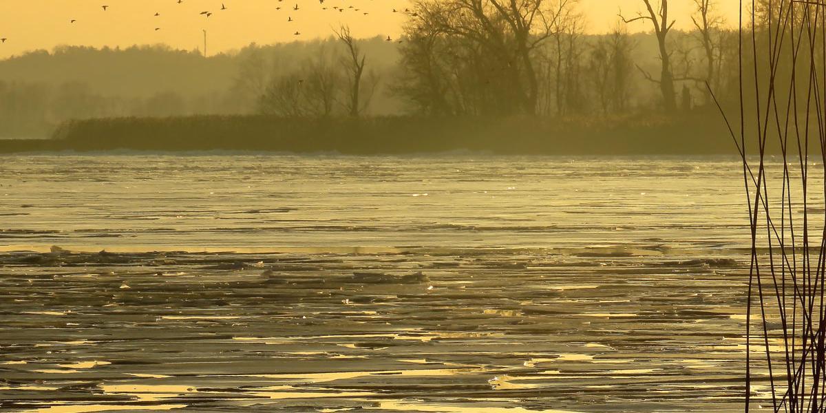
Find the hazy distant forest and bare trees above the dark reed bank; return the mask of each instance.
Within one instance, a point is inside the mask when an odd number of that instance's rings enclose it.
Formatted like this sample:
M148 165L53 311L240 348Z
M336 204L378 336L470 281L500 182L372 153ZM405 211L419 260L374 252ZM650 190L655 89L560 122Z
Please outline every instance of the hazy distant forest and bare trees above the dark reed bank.
M706 84L733 105L738 33L714 2L695 2L692 16L653 8L601 35L585 33L572 0L518 10L416 0L399 39L357 40L341 27L209 57L163 45L36 50L0 61L0 137L119 116L679 116L714 108ZM674 20L695 29L673 30Z

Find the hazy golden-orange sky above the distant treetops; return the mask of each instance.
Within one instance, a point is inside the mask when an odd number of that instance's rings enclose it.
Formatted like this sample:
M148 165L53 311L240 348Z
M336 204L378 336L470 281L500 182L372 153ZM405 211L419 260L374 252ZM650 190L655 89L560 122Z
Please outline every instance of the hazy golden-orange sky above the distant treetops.
M251 42L268 44L330 36L331 27L344 23L355 36L396 36L407 0L0 0L0 59L26 50L55 45L129 46L165 43L192 50L201 47L207 30L209 52L239 49ZM738 2L718 0L720 12L736 21ZM671 0L678 27L691 24L691 0ZM102 5L108 5L104 12ZM607 31L617 12L634 16L642 0L581 0L588 30ZM292 10L298 6L299 10ZM278 10L277 7L281 7ZM323 10L322 7L327 7ZM338 12L333 7L343 7ZM353 7L353 8L349 8ZM355 10L359 9L358 12ZM210 11L211 17L200 12ZM367 12L368 14L363 14ZM159 17L154 14L159 13ZM287 19L292 17L293 21ZM69 21L76 19L74 23ZM636 22L633 30L650 29ZM155 30L159 28L160 30ZM300 36L295 36L299 31Z

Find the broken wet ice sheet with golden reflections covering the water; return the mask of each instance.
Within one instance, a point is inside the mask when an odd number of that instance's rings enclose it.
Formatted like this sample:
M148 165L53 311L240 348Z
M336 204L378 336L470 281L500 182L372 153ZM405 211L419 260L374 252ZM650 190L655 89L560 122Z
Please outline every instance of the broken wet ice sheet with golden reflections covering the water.
M0 160L0 409L742 410L734 160Z

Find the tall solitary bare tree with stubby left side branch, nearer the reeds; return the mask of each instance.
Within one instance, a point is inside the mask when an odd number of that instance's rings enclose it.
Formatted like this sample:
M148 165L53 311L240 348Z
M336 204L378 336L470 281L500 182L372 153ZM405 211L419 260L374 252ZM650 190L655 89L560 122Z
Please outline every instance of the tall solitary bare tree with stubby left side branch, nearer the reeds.
M626 19L622 16L622 13L620 13L619 17L622 18L625 23L638 20L651 21L651 25L654 28L654 35L657 36L657 45L659 46L661 64L660 78L653 78L653 76L641 68L640 71L643 72L643 75L648 80L659 83L663 106L667 113L673 113L676 112L676 92L674 90L674 74L672 73L671 53L668 51L667 38L675 21L668 20L668 0L659 0L656 10L652 5L652 0L642 1L645 4L648 14L639 14L638 17Z

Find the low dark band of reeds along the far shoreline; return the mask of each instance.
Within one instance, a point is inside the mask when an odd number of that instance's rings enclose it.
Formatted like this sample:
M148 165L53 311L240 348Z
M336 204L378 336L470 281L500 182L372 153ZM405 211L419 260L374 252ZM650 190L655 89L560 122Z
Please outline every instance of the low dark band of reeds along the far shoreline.
M733 154L714 113L563 120L529 117L311 118L266 115L68 121L51 139L0 140L0 153L209 151L415 154Z

